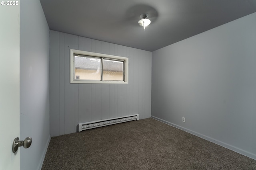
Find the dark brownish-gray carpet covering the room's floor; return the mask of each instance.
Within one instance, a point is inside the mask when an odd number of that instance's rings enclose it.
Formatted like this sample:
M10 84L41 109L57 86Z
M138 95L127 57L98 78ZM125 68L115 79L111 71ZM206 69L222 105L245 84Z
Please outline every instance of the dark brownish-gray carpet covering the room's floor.
M52 137L42 170L256 170L256 160L152 118Z

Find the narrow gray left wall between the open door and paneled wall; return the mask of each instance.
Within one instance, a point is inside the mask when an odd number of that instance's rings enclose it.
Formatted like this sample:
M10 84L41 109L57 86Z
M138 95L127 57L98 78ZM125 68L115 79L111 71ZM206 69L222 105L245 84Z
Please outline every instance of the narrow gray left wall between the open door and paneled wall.
M39 0L20 1L20 169L40 170L50 140L50 38Z

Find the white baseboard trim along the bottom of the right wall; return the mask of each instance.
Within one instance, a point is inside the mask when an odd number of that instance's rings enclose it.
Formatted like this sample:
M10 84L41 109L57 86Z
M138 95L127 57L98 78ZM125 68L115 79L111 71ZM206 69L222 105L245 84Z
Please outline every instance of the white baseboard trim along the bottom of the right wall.
M158 117L151 116L151 118L156 119L156 120L158 120L158 121L161 121L161 122L163 122L163 123L166 123L166 124L168 124L168 125L171 125L171 126L173 126L173 127L176 127L176 128L178 128L178 129L180 129L180 130L186 131L186 132L188 132L188 133L190 133L190 134L192 134L192 135L195 135L195 136L197 136L197 137L200 137L200 138L202 138L202 139L205 139L205 140L207 140L207 141L210 141L210 142L212 142L212 143L215 143L215 144L217 144L217 145L220 145L220 146L222 146L222 147L224 147L224 148L233 150L233 151L238 152L238 153L240 153L240 154L242 154L242 155L244 155L244 156L248 156L249 158L252 158L252 159L256 160L256 154L253 154L253 153L248 152L248 151L243 150L243 149L239 149L239 148L237 148L237 147L234 147L234 146L229 145L229 144L227 144L227 143L224 143L224 142L222 142L222 141L218 141L218 140L213 139L213 138L211 138L211 137L208 137L208 136L206 136L206 135L202 135L202 134L197 133L197 132L195 132L195 131L192 131L192 130L190 130L190 129L181 127L181 126L179 126L179 125L176 125L176 124L174 124L174 123L170 123L170 122L165 121L165 120L163 120L163 119L160 119L160 118L158 118Z

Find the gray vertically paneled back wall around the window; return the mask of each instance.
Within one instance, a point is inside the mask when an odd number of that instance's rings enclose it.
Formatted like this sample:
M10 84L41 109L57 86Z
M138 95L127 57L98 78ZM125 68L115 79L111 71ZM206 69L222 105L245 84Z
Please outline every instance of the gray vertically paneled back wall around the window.
M70 84L70 49L129 57L129 84ZM50 134L78 131L78 123L139 114L151 116L152 53L50 31Z

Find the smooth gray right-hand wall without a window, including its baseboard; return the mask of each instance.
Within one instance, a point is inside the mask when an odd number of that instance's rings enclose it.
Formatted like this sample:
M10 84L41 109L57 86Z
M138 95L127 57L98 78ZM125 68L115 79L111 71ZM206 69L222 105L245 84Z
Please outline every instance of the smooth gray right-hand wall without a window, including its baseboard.
M256 13L152 52L152 117L256 159Z

